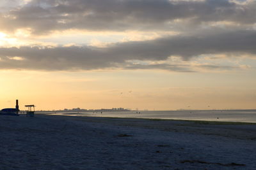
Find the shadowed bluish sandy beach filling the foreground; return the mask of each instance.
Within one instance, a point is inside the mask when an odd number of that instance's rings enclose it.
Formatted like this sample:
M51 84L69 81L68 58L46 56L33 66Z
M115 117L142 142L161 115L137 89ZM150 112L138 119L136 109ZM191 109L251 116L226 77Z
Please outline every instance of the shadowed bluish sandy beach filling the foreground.
M256 169L256 125L0 117L0 169Z

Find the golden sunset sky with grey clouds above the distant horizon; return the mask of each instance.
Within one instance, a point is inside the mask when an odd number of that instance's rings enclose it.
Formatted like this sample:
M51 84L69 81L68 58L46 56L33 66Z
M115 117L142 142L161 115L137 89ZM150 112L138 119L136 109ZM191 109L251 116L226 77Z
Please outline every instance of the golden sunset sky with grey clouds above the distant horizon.
M1 0L0 108L255 109L255 0Z

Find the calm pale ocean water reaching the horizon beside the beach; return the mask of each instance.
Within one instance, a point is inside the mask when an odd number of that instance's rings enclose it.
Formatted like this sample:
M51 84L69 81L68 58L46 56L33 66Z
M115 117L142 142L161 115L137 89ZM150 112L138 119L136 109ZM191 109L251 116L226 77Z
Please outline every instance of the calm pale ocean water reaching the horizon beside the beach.
M56 113L56 115L119 118L161 118L174 120L208 120L220 122L256 123L256 110L196 110L196 111L106 111Z

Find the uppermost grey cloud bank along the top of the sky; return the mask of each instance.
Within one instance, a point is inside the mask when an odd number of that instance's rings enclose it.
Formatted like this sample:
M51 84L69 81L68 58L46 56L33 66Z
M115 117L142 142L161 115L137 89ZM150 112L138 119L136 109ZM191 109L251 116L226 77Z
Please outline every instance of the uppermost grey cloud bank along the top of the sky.
M36 34L54 30L152 30L190 26L202 22L256 22L256 3L228 0L33 0L26 6L1 13L1 29L30 27ZM180 24L181 23L181 24ZM179 25L180 24L180 25ZM188 27L188 25L186 25Z

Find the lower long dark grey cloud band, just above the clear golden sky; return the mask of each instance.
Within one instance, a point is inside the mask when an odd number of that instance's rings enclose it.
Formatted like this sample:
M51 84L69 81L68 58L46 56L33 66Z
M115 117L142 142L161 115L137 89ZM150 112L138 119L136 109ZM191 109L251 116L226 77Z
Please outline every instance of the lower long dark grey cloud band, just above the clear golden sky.
M91 69L169 69L189 71L180 66L132 64L131 60L166 60L218 53L256 55L256 31L233 31L198 36L170 36L150 41L116 43L106 48L60 46L0 48L1 69L91 70ZM22 57L24 60L15 60Z

